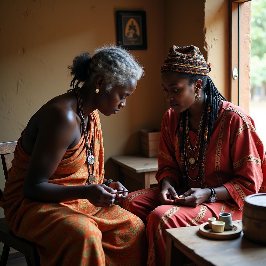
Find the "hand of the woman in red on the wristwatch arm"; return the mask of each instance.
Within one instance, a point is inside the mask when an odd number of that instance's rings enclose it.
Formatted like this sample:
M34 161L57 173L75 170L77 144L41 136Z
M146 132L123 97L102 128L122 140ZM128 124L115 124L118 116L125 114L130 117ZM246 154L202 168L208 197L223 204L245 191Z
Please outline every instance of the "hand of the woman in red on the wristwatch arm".
M197 207L202 202L208 201L210 194L209 188L190 188L174 201L181 205Z

